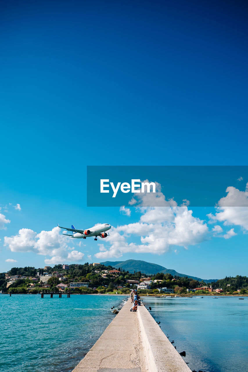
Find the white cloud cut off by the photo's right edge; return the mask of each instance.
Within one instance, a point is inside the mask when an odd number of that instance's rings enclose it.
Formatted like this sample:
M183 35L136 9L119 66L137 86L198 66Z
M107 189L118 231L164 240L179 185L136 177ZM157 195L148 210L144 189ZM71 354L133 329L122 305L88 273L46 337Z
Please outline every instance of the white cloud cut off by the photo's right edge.
M239 225L244 230L248 230L248 183L245 191L229 186L226 193L227 195L219 200L216 213L207 216L213 222L220 221L224 225Z

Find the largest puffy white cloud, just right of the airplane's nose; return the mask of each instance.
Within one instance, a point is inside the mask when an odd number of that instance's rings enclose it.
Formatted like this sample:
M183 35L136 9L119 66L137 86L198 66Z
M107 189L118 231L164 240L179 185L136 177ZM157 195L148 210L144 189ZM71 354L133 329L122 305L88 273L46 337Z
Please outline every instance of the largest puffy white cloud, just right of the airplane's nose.
M206 240L206 223L193 217L187 205L178 206L173 199L167 201L157 182L156 190L156 193L138 194L132 198L129 204L142 214L139 222L112 227L107 241L109 247L99 245L96 258L118 258L127 252L164 254L173 246L187 249L189 245ZM138 236L140 242L129 243L130 235Z

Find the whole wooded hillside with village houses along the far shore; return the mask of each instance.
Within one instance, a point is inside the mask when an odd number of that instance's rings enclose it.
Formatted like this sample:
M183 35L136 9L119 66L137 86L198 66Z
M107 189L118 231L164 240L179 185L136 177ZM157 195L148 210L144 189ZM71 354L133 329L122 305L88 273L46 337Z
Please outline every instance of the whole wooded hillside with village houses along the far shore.
M195 279L157 273L151 276L101 263L58 264L54 267L13 267L0 273L1 293L36 294L67 292L81 294L129 294L137 288L139 294L248 294L246 276L226 277L216 282L199 282Z

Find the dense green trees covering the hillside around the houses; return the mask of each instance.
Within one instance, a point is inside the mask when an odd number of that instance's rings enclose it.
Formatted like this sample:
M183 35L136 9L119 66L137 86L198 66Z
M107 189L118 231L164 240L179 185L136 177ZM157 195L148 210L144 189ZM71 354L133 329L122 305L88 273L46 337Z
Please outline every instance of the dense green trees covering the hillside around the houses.
M75 288L72 291L75 293L123 293L129 294L130 288L132 286L126 283L126 280L140 280L142 277L146 278L147 275L144 273L133 272L129 273L122 267L117 268L120 271L118 277L113 277L113 274L106 273L106 278L102 277L102 270L113 270L112 266L105 266L100 264L98 266L93 266L92 264L71 264L69 269L63 269L62 264L57 264L54 267L49 267L46 271L43 268L35 269L35 267L13 267L9 270L8 275L21 275L27 276L25 279L17 279L13 282L8 288L6 288L7 280L5 279L5 274L0 273L0 290L2 292L12 292L12 293L38 293L39 290L43 287L43 283L39 282L37 277L37 272L39 275L43 275L44 271L53 274L58 272L64 276L64 280L59 280L59 278L54 274L51 278L48 279L48 284L51 285L50 288L43 290L58 292L56 285L59 283L65 283L70 285L71 282L88 282L90 288L80 287ZM97 272L96 272L97 271ZM32 280L35 278L36 280ZM199 288L206 286L206 283L199 282L198 280L188 278L187 276L173 276L170 273L157 273L150 277L153 282L150 285L150 289L139 290L140 294L153 294L158 293L161 288L170 288L172 292L174 291L177 294L186 294L189 293L193 288ZM38 279L38 280L37 280ZM158 280L154 282L154 280ZM248 293L248 278L246 276L237 275L235 278L226 277L225 279L220 279L210 283L213 289L222 288L223 291L229 294L235 294L235 292L240 289L240 294ZM33 286L33 288L30 288ZM122 288L117 288L121 286ZM187 289L189 292L187 292ZM68 289L65 289L67 291ZM160 293L164 293L160 291ZM209 294L208 291L200 290L198 293ZM212 292L213 293L213 292ZM237 292L236 292L237 293Z

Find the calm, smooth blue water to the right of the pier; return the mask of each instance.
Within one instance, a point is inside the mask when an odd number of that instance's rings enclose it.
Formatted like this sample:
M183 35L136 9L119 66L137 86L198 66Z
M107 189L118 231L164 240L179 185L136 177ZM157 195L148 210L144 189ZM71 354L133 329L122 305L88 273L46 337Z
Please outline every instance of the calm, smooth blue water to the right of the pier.
M248 297L143 297L162 331L174 341L190 369L248 371Z

